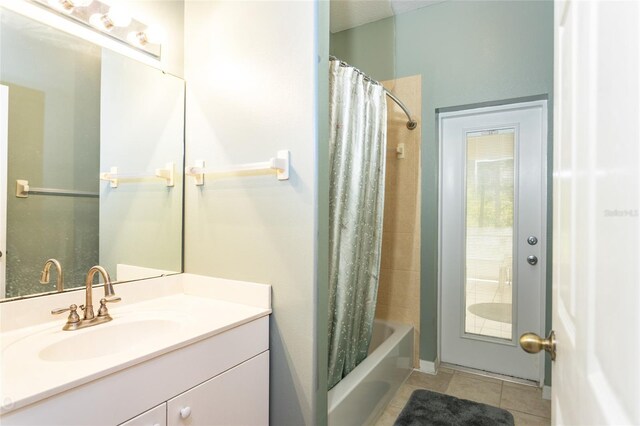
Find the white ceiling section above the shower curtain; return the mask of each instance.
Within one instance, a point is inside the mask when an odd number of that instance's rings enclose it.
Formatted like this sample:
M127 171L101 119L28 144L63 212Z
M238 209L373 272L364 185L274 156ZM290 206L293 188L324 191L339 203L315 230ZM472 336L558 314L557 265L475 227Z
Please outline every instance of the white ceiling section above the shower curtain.
M446 0L331 0L331 32L441 3Z

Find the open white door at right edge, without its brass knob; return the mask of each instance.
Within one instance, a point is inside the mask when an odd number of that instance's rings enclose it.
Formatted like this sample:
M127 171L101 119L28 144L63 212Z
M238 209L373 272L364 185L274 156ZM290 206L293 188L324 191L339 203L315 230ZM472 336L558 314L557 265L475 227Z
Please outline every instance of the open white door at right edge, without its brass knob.
M640 424L640 2L556 1L552 423Z

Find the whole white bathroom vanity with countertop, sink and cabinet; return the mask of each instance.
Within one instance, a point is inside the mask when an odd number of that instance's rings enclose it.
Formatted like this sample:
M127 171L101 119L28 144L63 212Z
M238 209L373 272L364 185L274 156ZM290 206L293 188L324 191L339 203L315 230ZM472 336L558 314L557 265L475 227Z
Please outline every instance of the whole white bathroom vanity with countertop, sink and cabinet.
M268 424L270 286L179 274L116 292L112 321L75 331L49 311L83 292L0 305L0 423Z

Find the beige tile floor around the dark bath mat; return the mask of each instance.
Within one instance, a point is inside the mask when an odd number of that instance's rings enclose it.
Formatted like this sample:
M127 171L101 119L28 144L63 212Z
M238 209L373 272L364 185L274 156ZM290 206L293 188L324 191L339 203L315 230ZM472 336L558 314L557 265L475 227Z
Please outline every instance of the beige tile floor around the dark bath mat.
M513 414L516 426L551 424L551 402L542 399L541 389L441 367L437 375L411 373L376 426L392 426L416 389L429 389L504 408Z

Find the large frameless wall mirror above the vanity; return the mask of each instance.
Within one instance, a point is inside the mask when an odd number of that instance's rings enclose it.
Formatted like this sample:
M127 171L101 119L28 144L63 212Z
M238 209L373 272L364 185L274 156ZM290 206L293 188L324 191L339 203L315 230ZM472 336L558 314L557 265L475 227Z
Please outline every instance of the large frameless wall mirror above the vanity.
M0 8L0 297L181 272L183 165L183 80Z

